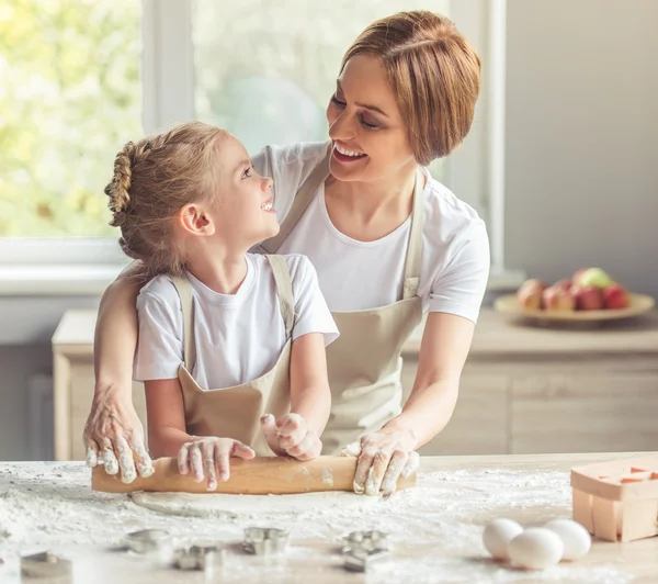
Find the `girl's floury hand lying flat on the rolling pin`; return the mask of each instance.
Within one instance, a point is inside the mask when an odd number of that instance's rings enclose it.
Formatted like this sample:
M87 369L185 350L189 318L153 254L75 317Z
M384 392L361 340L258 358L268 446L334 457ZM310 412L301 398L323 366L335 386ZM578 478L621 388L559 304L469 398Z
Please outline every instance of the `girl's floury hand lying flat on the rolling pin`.
M217 479L226 482L230 476L230 457L249 460L256 457L256 452L232 438L193 436L192 440L179 450L178 467L181 474L188 474L192 469L192 475L197 483L207 478L207 490L215 491Z

